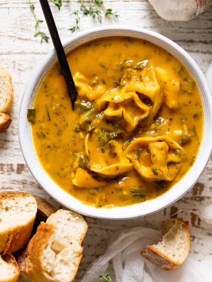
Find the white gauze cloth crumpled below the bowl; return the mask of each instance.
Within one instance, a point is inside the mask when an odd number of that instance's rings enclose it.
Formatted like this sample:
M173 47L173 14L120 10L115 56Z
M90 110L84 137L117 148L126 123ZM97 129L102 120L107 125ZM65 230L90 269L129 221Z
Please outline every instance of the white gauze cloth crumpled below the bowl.
M98 275L110 272L112 282L211 282L212 261L188 257L176 269L165 271L140 255L147 245L157 244L160 231L134 227L113 234L104 255L96 259L80 282L101 282Z

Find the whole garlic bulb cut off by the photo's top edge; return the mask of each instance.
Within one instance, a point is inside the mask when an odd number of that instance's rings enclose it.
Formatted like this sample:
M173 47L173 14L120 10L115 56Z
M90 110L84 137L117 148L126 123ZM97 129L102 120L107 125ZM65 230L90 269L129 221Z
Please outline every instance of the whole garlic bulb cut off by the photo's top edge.
M203 13L212 0L149 0L155 11L168 21L188 21Z

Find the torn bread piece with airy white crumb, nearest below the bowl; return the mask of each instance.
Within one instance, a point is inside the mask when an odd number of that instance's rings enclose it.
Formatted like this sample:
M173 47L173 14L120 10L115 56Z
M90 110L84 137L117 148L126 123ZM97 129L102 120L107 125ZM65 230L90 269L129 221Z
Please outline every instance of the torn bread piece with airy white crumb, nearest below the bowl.
M41 222L29 241L25 274L33 282L73 281L82 258L87 223L79 214L58 210Z

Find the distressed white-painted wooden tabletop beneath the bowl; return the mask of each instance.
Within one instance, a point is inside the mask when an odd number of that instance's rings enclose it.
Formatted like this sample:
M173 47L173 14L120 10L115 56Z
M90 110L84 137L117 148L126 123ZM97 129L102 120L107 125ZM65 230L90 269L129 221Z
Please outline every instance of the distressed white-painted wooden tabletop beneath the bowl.
M33 1L39 19L44 19L39 1ZM73 1L79 8L79 1ZM120 18L115 24L138 26L157 31L182 46L206 73L212 62L212 7L195 19L188 22L165 21L161 19L147 0L105 0L105 6L118 11ZM71 35L68 28L74 26L70 16L71 5L63 0L61 11L51 4L54 18L61 39ZM80 16L80 28L99 26L90 17ZM0 65L12 76L14 87L14 105L11 111L12 124L0 134L0 189L16 189L33 192L45 198L56 208L61 207L51 199L32 177L27 168L19 147L17 119L21 97L25 85L37 64L53 48L49 43L40 43L34 37L34 18L28 0L0 1ZM103 24L109 25L108 19ZM45 23L42 31L48 33ZM211 74L212 75L212 74ZM170 214L179 209L199 209L212 202L212 162L209 162L198 183L178 202L156 214L133 220L109 221L87 217L89 226L84 240L84 257L74 281L79 281L86 268L96 257L104 253L110 234L115 230L131 226L150 226L159 228L162 220L170 218ZM212 259L212 226L209 226L194 214L183 214L190 221L191 250L190 255L198 260Z

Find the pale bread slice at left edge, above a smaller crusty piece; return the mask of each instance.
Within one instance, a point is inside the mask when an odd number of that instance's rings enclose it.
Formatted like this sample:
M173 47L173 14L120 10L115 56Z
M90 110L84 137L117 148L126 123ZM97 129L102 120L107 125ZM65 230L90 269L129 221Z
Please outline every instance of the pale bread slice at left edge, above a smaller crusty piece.
M13 88L9 72L0 66L0 112L8 113L12 108Z

